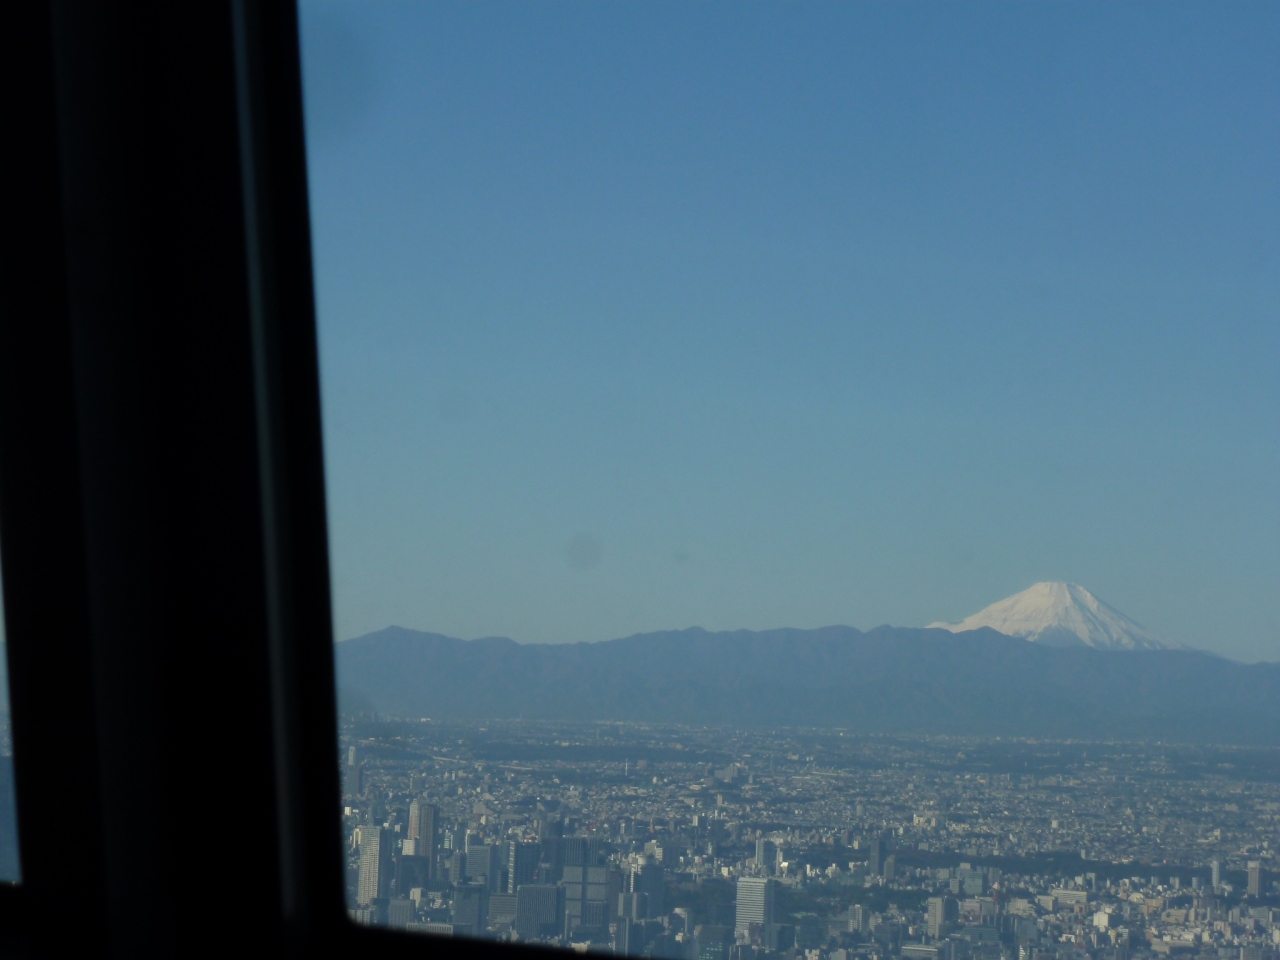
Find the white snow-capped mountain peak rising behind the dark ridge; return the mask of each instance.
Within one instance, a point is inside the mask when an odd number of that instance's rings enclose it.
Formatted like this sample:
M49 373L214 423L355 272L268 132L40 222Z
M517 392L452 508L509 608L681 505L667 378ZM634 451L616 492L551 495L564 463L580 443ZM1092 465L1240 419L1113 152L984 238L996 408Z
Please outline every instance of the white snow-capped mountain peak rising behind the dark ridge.
M954 634L991 627L1009 636L1051 646L1083 645L1098 650L1180 649L1179 644L1156 636L1078 584L1036 584L959 623L929 626Z

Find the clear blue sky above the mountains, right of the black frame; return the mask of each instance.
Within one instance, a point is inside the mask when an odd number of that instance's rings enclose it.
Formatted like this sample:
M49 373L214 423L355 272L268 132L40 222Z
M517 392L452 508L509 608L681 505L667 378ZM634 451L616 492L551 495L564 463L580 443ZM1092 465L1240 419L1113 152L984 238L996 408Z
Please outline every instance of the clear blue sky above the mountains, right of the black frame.
M1280 659L1280 5L302 13L339 637Z

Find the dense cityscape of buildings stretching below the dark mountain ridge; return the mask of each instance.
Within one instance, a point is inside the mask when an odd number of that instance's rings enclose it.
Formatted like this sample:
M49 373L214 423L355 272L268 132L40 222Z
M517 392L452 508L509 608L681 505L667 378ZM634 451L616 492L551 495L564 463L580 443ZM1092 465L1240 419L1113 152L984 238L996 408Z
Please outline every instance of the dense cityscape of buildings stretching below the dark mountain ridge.
M361 923L669 960L1274 960L1280 751L348 719Z

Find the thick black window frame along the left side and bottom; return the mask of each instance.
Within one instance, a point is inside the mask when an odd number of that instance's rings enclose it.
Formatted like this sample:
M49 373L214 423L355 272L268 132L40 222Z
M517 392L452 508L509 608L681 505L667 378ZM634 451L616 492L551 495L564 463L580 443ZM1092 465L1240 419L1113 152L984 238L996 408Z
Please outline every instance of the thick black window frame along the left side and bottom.
M3 18L0 955L545 954L347 918L294 4Z

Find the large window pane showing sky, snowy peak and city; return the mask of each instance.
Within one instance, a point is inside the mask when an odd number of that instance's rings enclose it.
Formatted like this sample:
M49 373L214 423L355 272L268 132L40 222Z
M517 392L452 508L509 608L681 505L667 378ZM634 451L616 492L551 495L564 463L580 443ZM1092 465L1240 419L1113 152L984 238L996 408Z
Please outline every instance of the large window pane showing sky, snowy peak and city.
M1274 956L1276 49L303 0L351 916Z

